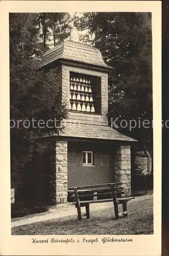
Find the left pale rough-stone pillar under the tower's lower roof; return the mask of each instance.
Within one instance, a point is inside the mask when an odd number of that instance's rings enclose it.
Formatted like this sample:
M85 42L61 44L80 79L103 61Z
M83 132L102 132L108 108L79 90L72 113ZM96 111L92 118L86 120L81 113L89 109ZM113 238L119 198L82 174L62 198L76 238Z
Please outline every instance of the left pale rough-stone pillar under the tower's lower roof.
M56 141L56 203L67 202L67 141Z

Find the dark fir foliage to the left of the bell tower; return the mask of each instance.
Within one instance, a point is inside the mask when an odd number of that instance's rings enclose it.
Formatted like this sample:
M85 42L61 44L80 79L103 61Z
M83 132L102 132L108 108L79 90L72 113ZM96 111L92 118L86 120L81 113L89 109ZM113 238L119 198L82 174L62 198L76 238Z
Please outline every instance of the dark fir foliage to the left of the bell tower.
M37 138L58 133L55 126L43 129L32 125L32 119L57 119L66 116L60 100L60 77L57 70L38 70L44 48L39 41L38 13L10 13L10 120L11 171L23 171L33 151L43 151ZM47 31L43 30L43 33ZM47 36L44 35L44 41ZM23 125L24 120L28 120ZM17 127L17 120L20 120ZM29 122L31 124L29 125ZM15 125L14 125L15 123ZM35 127L36 126L36 127ZM26 128L28 127L28 128Z

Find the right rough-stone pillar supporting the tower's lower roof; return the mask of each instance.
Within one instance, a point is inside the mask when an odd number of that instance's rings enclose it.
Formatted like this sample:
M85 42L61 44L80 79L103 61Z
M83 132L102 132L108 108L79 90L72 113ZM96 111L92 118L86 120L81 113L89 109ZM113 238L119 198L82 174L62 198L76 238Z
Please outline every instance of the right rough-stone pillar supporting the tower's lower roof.
M131 196L131 154L130 145L118 147L114 163L114 179L123 182L126 196Z

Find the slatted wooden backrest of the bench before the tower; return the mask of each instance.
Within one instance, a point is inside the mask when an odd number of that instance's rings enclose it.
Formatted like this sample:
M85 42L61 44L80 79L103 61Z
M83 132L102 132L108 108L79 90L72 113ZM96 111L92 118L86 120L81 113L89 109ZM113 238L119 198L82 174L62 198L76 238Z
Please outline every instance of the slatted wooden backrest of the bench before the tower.
M114 182L99 185L76 187L80 202L125 197L123 183ZM76 202L75 187L67 190L67 202Z

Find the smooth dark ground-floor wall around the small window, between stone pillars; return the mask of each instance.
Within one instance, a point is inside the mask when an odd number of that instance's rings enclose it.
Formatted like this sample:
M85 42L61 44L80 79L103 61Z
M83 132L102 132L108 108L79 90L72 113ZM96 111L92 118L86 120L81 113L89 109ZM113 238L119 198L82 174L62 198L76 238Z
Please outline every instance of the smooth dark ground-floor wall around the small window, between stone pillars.
M114 180L110 143L68 142L68 187L110 183ZM94 152L94 165L83 165L83 151ZM101 161L102 157L107 161Z

